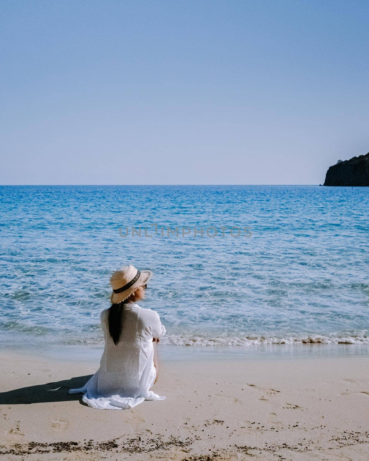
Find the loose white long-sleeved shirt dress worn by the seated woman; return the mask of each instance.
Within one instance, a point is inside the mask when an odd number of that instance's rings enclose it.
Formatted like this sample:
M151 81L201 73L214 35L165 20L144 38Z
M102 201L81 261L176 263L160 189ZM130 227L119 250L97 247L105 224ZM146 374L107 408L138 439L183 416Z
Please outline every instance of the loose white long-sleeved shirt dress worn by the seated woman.
M133 408L144 400L164 400L149 390L156 378L153 338L166 333L158 313L135 302L124 304L117 345L109 334L108 313L105 309L100 314L105 338L100 367L83 387L69 393L82 392L82 401L89 407L111 410Z

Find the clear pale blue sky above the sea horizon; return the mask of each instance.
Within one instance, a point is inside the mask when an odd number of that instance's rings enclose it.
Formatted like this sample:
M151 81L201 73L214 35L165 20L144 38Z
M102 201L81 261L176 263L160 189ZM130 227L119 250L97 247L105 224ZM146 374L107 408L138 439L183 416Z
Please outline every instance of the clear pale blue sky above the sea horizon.
M319 184L369 151L369 2L0 1L1 184Z

